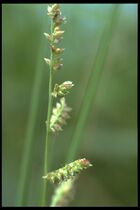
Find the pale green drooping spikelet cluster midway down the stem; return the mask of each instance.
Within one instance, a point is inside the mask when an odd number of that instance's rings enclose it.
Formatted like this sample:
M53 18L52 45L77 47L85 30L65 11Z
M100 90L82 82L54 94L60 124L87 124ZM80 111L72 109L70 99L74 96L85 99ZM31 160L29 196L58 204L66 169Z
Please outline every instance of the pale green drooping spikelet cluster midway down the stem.
M53 108L50 129L53 132L62 131L62 126L66 124L66 120L70 118L69 112L72 109L67 106L65 98L60 98L60 102L56 103L56 107Z

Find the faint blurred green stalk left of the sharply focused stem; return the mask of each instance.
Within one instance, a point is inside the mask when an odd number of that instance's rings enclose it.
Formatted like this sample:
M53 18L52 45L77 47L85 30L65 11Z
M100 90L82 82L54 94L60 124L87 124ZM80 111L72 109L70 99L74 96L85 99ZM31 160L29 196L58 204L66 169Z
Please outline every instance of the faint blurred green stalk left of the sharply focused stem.
M44 31L45 26L45 19L42 24L42 31ZM42 33L42 32L41 32ZM28 116L28 124L27 124L27 131L25 136L25 143L23 149L23 156L21 160L20 166L20 176L19 176L19 183L17 189L17 206L24 206L27 202L28 196L28 186L30 181L30 168L31 168L31 160L33 157L33 146L34 146L34 131L37 119L37 110L39 106L39 97L40 97L40 89L41 83L43 78L43 61L42 55L44 48L44 39L42 38L40 49L39 49L39 56L38 56L38 63L35 72L35 79L33 84L33 90L31 95L31 102L29 108L29 116Z

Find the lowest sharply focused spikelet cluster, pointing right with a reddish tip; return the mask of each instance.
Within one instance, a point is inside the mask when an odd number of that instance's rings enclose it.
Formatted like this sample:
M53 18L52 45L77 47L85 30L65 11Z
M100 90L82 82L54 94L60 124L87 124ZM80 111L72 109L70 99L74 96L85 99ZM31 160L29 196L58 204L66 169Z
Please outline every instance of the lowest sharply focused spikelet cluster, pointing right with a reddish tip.
M92 164L87 159L85 158L78 159L72 163L67 164L63 168L48 173L46 176L43 176L42 178L50 180L52 183L57 184L74 178L83 169L87 169L90 166L92 166Z

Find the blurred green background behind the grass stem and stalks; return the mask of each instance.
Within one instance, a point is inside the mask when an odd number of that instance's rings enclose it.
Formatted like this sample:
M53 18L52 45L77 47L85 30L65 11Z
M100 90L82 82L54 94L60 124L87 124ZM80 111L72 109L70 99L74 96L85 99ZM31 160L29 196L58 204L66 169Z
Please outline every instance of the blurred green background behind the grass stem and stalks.
M56 82L71 80L69 123L55 136L52 169L63 166L80 103L111 4L62 4L67 17L62 46L64 67ZM2 5L2 202L15 206L21 154L28 122L40 43L43 78L32 160L29 206L37 206L44 162L49 56L45 4ZM45 25L43 26L43 21ZM43 28L44 27L44 28ZM94 69L92 69L94 70ZM137 206L137 4L122 4L109 53L77 158L94 166L81 174L72 206ZM76 158L76 159L77 159Z

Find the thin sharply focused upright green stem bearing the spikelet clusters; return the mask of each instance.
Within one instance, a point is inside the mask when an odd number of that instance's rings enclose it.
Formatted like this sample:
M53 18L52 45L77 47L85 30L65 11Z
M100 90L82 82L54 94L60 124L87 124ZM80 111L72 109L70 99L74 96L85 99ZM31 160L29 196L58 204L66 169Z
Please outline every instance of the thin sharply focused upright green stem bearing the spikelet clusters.
M53 21L51 20L51 34L53 33ZM51 44L53 44L51 42ZM46 142L45 142L45 156L44 156L44 175L49 171L49 139L50 139L50 118L52 111L52 79L53 79L53 53L50 51L50 76L49 76L49 98L48 98L48 112L46 121ZM43 194L42 194L42 206L46 205L46 194L47 194L47 182L43 180Z

